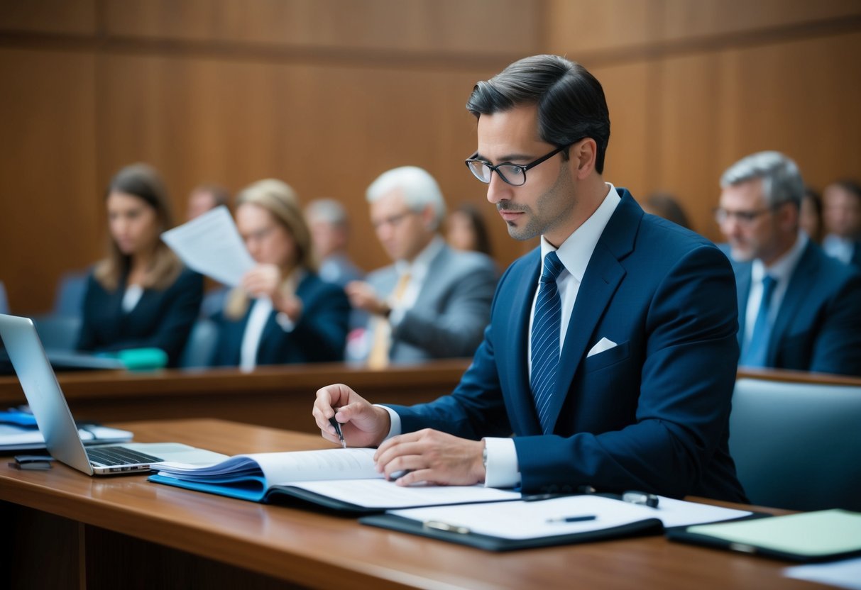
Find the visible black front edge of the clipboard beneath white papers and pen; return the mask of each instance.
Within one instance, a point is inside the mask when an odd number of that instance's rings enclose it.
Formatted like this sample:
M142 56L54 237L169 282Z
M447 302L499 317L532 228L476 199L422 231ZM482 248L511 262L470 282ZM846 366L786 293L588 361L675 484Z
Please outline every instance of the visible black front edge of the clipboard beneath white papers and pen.
M577 532L573 534L551 535L547 537L533 538L502 538L485 535L468 530L454 530L435 528L424 522L407 519L395 514L375 514L364 516L359 519L362 525L377 526L392 531L408 532L420 537L436 538L449 543L468 545L487 551L511 551L521 549L536 549L538 547L552 547L554 545L567 545L578 543L593 543L595 541L607 541L615 538L632 538L647 535L660 535L664 531L664 525L660 519L643 519L630 522L625 525L613 526L598 531Z

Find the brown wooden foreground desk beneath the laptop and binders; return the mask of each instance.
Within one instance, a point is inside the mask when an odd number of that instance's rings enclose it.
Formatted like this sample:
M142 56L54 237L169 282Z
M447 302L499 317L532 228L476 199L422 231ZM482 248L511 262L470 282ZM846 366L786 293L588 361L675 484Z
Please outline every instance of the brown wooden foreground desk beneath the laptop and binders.
M326 446L307 434L225 421L117 426L140 440L228 454ZM662 537L492 554L145 476L92 478L63 464L19 471L3 462L0 500L4 534L15 535L15 550L3 553L12 587L815 587L784 579L784 562Z

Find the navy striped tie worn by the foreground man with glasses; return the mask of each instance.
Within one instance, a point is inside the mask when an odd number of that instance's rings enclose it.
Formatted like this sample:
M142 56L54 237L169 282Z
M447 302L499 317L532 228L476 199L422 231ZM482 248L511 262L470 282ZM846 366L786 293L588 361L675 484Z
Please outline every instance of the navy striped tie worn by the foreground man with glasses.
M532 318L532 375L530 387L536 399L538 419L544 433L550 432L548 409L556 388L556 369L559 366L559 335L562 322L562 302L556 277L565 270L559 256L549 252L544 256L541 288L536 300L536 313Z

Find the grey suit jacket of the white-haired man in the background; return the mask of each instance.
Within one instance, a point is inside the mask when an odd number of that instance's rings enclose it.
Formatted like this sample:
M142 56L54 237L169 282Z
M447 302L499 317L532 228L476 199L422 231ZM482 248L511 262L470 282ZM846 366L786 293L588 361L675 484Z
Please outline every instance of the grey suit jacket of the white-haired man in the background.
M469 357L490 321L490 304L499 278L492 258L443 246L431 261L416 303L392 329L394 363ZM398 282L394 265L369 273L367 281L381 298ZM373 329L373 323L369 323Z

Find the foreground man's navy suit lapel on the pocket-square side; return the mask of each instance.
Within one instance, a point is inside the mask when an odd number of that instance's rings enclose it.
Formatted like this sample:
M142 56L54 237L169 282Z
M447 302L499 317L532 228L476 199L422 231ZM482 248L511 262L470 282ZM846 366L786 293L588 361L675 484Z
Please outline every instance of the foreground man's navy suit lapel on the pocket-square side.
M585 360L587 346L591 343L598 321L625 277L625 269L619 261L634 249L643 212L627 190L616 190L622 195L622 200L595 245L568 321L556 375L556 395L551 398L548 409L550 425L555 425L558 420L577 368Z

